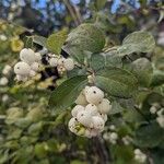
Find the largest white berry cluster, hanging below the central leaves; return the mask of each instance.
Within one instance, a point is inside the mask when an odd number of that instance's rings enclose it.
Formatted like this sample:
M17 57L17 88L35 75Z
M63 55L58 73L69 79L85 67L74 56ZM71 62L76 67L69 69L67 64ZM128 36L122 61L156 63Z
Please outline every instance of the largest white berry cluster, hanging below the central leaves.
M96 86L85 86L75 104L69 121L70 131L87 138L99 134L112 108L110 102L104 98L104 92Z

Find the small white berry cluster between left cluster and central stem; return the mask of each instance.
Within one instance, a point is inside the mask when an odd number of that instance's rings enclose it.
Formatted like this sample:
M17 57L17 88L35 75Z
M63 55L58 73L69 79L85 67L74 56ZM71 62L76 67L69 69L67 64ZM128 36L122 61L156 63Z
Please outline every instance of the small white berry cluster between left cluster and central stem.
M51 55L49 60L49 65L51 67L57 67L59 73L63 73L66 70L71 71L74 68L74 61L71 58L58 57L56 55Z

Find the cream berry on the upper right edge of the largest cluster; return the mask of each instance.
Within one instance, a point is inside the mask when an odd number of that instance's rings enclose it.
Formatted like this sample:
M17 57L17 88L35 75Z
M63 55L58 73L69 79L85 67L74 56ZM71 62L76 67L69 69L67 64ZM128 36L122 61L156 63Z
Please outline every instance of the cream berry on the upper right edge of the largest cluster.
M110 102L107 98L103 98L103 101L98 104L97 108L101 114L108 114L112 109Z

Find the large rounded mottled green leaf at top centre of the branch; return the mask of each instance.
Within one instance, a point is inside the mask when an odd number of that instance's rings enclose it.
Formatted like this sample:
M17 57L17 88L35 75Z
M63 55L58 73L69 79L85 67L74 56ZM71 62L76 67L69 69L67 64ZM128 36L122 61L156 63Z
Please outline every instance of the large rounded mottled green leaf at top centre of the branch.
M84 51L99 52L105 45L105 36L94 24L81 24L73 30L62 47L70 56L83 61Z

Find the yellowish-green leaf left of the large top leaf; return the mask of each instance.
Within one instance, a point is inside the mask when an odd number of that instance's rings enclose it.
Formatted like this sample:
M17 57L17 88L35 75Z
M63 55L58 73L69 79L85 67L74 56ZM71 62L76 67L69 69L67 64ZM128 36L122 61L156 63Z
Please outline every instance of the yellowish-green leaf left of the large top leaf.
M61 51L61 47L65 43L67 38L67 33L66 31L60 31L57 32L55 34L51 34L48 38L47 38L47 48L55 52L56 55L60 55Z

